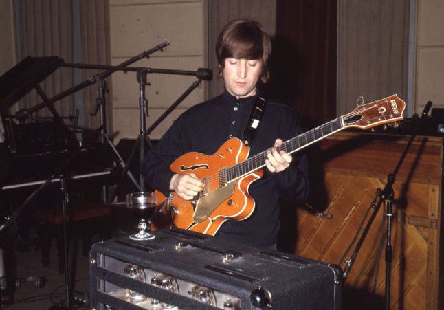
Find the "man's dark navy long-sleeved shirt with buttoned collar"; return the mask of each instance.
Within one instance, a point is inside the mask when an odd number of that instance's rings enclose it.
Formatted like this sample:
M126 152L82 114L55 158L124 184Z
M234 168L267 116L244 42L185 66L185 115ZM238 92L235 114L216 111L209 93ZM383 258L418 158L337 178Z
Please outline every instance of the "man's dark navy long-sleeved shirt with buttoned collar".
M142 174L149 186L168 194L174 175L170 164L180 155L199 152L212 155L231 137L242 138L243 130L257 96L240 98L224 91L220 96L197 104L184 112L144 157ZM269 100L249 157L274 146L276 138L289 140L300 134L293 109ZM280 229L278 199L301 203L308 195L307 158L293 154L291 166L280 173L269 173L249 186L256 202L254 213L243 221L225 221L217 236L258 247L276 243Z

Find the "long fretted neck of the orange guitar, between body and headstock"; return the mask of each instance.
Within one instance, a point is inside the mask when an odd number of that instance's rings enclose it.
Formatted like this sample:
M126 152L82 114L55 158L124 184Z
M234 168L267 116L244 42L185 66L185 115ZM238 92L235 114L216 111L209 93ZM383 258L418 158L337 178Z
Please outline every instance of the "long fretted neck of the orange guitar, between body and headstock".
M286 142L282 143L281 146L276 148L276 150L285 151L285 153L291 154L342 129L344 129L342 117L335 118L335 120L331 120L330 122L316 127L315 129L311 129L306 133L302 133L290 140L287 140ZM268 150L258 153L244 162L225 168L227 181L233 181L239 177L242 177L243 175L252 173L254 170L264 167L265 159L267 159L267 151Z

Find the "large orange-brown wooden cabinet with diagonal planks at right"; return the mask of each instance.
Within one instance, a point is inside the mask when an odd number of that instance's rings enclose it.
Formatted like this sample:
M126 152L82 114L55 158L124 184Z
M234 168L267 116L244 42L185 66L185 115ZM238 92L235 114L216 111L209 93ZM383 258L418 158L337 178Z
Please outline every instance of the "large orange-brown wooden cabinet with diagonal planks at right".
M344 132L326 138L315 146L317 150L311 149L311 168L315 174L318 170L311 182L315 194L311 204L332 218L297 210L293 252L344 268L354 247L343 259L342 256L364 219L375 190L384 188L387 175L395 169L407 142L408 136ZM442 181L443 139L417 137L394 186L392 309L442 308ZM384 305L385 240L377 259L383 214L381 208L346 280L344 309L377 309ZM441 247L441 254L442 250Z

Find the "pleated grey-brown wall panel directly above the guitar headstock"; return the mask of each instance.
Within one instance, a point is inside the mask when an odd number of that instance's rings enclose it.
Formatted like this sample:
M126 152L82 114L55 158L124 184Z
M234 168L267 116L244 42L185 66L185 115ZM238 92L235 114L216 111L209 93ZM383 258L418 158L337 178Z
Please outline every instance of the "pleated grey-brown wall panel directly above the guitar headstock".
M337 3L337 114L393 93L407 101L409 1Z

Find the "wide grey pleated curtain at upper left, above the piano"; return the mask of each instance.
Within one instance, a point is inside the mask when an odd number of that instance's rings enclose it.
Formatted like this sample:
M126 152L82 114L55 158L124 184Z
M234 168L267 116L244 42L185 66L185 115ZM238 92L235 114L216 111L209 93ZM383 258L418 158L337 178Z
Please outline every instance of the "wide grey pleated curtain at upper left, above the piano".
M71 0L20 0L18 1L20 25L21 58L26 56L58 56L71 63L73 59L73 29ZM21 60L21 59L20 59ZM41 82L43 91L49 98L69 89L73 83L72 69L56 69L53 74ZM32 90L23 102L26 108L43 100ZM61 116L74 113L72 96L54 102L54 107ZM37 116L51 116L49 109L36 112Z

